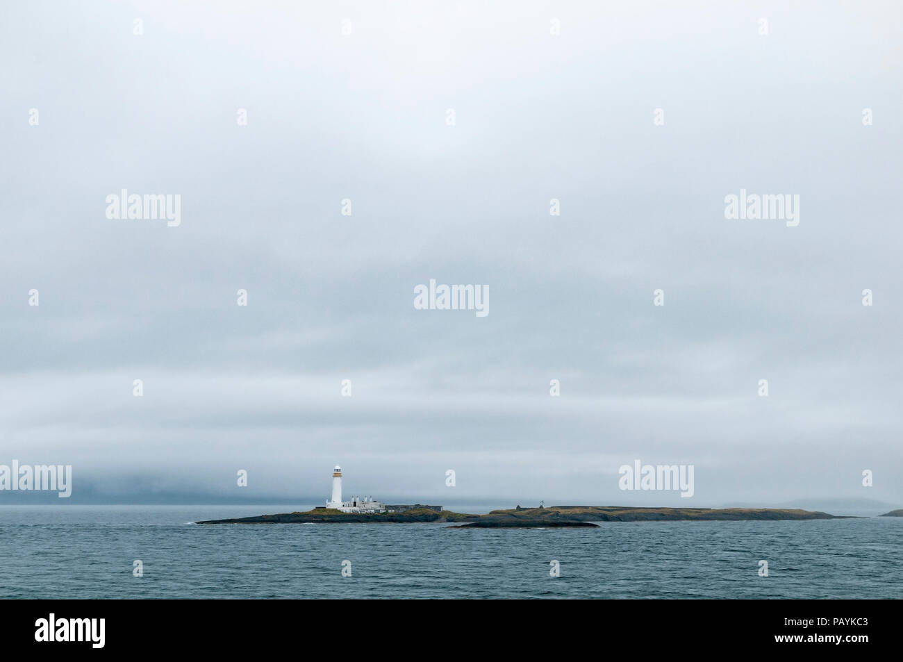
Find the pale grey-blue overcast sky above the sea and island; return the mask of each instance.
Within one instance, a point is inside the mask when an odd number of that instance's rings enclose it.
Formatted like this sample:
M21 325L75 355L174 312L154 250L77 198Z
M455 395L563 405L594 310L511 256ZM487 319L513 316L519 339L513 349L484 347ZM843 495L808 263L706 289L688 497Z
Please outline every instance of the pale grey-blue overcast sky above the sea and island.
M901 5L682 5L4 4L0 463L120 502L325 500L340 463L389 500L903 507ZM740 189L799 225L725 219ZM489 315L415 310L431 278ZM619 490L635 460L694 498Z

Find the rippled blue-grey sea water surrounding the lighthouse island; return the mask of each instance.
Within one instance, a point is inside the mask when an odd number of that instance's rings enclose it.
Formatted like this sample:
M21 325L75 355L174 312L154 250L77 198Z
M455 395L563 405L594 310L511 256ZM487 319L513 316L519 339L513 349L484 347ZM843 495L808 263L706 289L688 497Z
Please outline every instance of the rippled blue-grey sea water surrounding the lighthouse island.
M0 598L903 598L900 517L582 529L192 523L301 508L0 507ZM136 559L144 577L133 576Z

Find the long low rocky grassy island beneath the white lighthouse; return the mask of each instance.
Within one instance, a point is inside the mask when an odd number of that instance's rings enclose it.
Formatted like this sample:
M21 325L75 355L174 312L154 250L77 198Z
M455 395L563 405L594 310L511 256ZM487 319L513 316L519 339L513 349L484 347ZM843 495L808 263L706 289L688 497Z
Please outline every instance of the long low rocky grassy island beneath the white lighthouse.
M894 511L903 513L903 511ZM890 516L891 513L888 513ZM896 516L895 516L896 517ZM788 508L629 508L626 506L551 506L507 508L485 515L413 508L402 513L343 513L330 508L306 512L208 519L197 524L414 524L459 523L456 528L594 527L593 522L661 522L777 519L842 519L823 512Z

